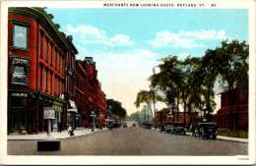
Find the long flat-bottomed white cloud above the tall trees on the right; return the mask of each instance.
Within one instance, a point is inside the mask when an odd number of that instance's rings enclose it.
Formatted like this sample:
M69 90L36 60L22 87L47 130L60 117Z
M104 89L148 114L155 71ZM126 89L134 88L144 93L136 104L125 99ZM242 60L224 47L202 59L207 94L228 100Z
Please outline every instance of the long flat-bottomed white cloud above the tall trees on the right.
M160 31L156 34L156 38L148 42L155 48L157 47L182 47L182 48L196 48L204 47L202 42L197 40L203 39L226 39L230 38L225 35L224 30L195 30L184 31L180 30L178 33L173 33L168 30Z

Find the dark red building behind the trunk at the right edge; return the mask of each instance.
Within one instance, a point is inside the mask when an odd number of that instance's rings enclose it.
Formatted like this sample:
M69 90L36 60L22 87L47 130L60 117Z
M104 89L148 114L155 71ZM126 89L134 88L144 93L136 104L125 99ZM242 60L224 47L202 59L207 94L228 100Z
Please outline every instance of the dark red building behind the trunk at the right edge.
M248 130L248 95L236 89L221 93L221 109L213 121L223 130Z

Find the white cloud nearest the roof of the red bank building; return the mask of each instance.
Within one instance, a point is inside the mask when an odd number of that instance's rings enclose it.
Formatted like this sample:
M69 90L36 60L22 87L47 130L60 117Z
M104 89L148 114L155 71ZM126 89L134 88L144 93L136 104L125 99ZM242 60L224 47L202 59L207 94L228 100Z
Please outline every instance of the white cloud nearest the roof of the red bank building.
M79 42L84 44L102 44L109 47L131 46L134 44L134 41L126 34L115 34L109 37L104 30L92 26L78 25L73 28L71 25L67 25L65 29L67 33L78 35L81 38Z

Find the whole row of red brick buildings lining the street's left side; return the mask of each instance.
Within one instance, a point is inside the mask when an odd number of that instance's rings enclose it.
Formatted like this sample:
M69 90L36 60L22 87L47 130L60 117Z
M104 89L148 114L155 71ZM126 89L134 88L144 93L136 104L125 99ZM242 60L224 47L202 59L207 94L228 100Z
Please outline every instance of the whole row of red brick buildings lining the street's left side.
M8 12L8 133L46 132L45 107L55 110L53 132L88 127L91 109L104 115L93 58L76 64L72 36L60 32L42 8Z

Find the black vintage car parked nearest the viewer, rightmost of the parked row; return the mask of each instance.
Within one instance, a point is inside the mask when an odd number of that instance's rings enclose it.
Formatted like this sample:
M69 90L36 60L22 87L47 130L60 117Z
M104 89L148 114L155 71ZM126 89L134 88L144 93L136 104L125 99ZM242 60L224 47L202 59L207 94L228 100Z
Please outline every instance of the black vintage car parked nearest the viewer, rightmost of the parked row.
M198 123L195 129L195 138L217 138L218 126L216 123Z

